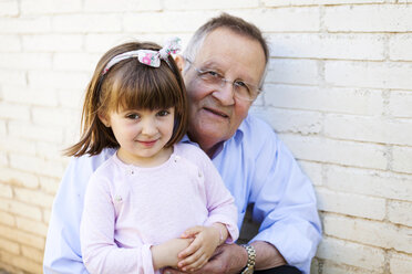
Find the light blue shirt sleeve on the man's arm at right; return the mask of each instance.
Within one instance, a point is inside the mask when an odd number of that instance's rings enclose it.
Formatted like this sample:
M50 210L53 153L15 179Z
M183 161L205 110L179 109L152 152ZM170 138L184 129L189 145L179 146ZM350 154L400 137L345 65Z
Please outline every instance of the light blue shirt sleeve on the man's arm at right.
M274 244L289 264L309 273L321 240L313 187L276 134L262 136L267 138L256 155L250 198L253 218L261 225L250 242Z

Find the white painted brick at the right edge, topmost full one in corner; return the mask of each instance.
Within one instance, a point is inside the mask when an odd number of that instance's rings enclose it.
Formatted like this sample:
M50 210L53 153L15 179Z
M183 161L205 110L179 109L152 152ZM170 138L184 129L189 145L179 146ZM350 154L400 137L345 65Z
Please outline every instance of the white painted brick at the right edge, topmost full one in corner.
M327 7L325 25L330 32L406 32L411 15L412 7L403 4Z

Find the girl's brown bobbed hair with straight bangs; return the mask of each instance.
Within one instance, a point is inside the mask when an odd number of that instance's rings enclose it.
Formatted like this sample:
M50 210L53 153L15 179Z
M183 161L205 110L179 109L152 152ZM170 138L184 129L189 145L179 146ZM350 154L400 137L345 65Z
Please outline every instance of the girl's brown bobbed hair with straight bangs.
M175 107L173 135L165 147L178 143L186 134L186 89L172 56L168 56L167 63L162 60L159 67L142 64L137 57L126 59L103 75L104 67L114 56L135 50L158 51L161 46L150 42L130 42L111 49L102 56L87 85L80 141L69 147L65 155L80 157L97 155L104 148L119 148L112 128L104 126L99 118L113 110Z

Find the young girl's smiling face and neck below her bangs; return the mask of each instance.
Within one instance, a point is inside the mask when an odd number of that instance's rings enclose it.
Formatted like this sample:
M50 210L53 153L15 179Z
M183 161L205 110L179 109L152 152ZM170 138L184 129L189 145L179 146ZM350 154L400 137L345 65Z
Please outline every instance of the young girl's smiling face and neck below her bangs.
M100 117L112 127L120 144L117 157L126 164L157 166L166 161L172 148L164 148L172 138L175 108L167 109L121 109Z

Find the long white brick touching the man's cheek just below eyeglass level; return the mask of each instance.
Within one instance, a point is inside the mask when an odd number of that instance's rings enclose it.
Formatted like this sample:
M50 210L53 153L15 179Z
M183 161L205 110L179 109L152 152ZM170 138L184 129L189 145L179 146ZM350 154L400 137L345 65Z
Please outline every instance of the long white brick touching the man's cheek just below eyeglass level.
M267 106L354 115L383 112L382 92L375 89L265 84L264 91Z

